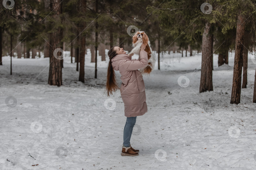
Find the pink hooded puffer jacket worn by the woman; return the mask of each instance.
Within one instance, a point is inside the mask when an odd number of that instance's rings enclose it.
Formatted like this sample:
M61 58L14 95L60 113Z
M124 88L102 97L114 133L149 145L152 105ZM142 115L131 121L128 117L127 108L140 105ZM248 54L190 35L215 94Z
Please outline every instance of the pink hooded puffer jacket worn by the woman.
M128 54L118 54L111 60L114 70L121 74L120 93L125 104L125 116L135 117L148 112L145 84L138 69L148 65L146 51L140 51L140 60L132 59Z

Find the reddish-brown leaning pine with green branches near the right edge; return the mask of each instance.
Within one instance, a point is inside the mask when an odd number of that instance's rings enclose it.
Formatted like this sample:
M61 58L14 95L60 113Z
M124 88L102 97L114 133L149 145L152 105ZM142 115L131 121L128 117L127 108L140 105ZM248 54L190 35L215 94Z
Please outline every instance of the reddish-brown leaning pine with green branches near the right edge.
M218 0L220 1L220 0ZM239 104L241 98L241 74L242 59L244 49L244 34L246 27L255 31L255 2L250 0L220 1L221 10L217 11L227 22L222 28L222 32L233 29L236 26L235 38L235 61L233 71L233 83L231 92L231 104Z

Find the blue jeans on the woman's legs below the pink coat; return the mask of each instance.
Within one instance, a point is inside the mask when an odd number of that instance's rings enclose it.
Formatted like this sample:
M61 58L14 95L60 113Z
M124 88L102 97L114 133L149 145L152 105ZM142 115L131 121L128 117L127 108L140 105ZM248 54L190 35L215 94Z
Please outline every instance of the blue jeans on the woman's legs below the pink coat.
M132 129L136 123L136 118L137 118L137 116L126 118L125 128L124 128L124 143L123 143L123 146L125 146L125 147L130 146L131 133L132 133Z

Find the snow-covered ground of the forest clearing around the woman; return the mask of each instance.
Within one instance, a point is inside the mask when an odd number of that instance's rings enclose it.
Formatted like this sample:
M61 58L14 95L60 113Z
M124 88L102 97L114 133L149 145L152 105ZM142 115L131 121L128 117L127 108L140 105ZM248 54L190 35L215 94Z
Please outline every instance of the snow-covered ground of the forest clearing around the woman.
M98 58L94 79L88 52L83 84L67 52L63 86L56 87L47 84L49 58L13 58L10 75L10 57L3 57L0 169L255 169L251 57L239 105L230 104L234 52L220 68L214 55L214 91L204 93L199 93L200 53L161 57L161 71L156 63L151 76L143 77L148 113L137 117L133 129L131 144L140 150L134 157L120 155L126 120L120 91L104 95L108 59Z

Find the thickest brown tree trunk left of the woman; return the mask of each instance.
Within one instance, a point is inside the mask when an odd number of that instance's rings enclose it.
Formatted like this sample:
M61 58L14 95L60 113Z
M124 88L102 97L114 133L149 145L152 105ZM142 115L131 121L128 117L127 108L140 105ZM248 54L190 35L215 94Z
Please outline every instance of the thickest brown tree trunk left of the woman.
M51 0L51 11L54 13L52 18L54 20L58 20L59 15L61 14L61 5L59 5L61 2L60 0ZM54 29L54 32L50 33L50 44L52 47L50 47L50 67L49 67L49 77L48 77L48 84L50 85L62 85L62 67L61 67L61 58L57 59L57 55L60 56L60 53L54 53L54 50L56 48L60 48L62 46L61 44L61 28L58 27ZM55 55L55 56L54 56ZM61 53L63 55L63 53ZM56 57L56 58L55 58Z

